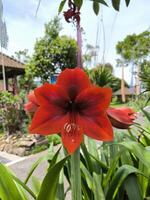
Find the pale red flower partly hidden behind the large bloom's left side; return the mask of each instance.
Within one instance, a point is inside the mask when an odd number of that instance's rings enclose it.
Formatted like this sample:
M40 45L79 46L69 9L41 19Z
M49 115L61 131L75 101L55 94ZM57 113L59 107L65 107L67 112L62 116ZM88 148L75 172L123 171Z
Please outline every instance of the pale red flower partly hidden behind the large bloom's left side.
M28 101L28 103L24 104L24 110L28 113L34 113L39 106L34 91L28 94Z

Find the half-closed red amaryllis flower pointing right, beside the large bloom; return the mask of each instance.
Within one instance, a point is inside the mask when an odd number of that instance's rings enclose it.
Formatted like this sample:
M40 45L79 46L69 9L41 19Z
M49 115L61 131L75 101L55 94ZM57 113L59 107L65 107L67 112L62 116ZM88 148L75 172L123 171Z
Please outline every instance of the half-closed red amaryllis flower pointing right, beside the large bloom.
M128 129L136 119L135 112L131 108L108 108L107 114L112 125L120 129Z

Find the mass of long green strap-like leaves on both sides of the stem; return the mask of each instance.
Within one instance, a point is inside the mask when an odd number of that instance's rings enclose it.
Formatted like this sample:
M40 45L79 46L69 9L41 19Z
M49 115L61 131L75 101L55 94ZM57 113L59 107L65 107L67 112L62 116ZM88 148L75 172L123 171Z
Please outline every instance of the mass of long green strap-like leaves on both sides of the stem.
M145 118L142 125L133 126L129 132L115 131L114 142L99 144L85 138L80 153L82 199L142 200L150 198L150 114L144 110L143 113ZM33 186L36 192L33 192L27 183L44 160L49 163L44 181L41 183L34 177ZM0 197L3 200L13 200L13 197L27 200L29 199L27 194L29 194L33 199L52 200L59 196L59 200L64 200L69 189L65 187L64 190L60 173L62 168L70 188L72 187L70 185L71 159L70 157L61 159L60 149L53 155L51 152L39 159L24 182L0 164L3 172L0 176L2 186ZM13 191L11 196L6 195L7 188L10 188L9 193Z

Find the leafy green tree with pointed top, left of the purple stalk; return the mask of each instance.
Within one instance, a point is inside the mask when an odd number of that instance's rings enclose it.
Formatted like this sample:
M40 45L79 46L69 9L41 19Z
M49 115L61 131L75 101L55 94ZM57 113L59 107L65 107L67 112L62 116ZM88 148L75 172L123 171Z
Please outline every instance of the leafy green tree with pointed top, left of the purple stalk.
M44 37L36 41L29 67L32 66L33 76L40 77L42 82L49 81L55 72L76 67L76 41L59 36L60 31L60 19L55 17L45 25Z

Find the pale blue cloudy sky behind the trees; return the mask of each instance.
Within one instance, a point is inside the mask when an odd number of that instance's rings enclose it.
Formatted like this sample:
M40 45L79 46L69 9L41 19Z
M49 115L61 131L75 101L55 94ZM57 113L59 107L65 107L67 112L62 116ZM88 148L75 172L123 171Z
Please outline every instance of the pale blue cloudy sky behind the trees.
M28 49L32 55L36 39L43 36L44 24L57 15L61 0L42 0L37 16L35 13L39 0L2 1L9 35L8 50L5 53L14 55L15 51ZM128 8L122 0L120 12L112 8L110 0L106 1L109 7L101 6L100 14L96 16L92 10L92 2L84 0L81 9L83 46L98 45L97 61L102 62L104 57L105 62L110 62L115 67L116 59L119 57L115 50L117 42L129 34L138 34L150 27L150 0L131 0ZM75 27L66 23L62 14L60 18L63 26L61 34L75 38ZM125 79L129 83L130 71L129 67L126 68ZM121 69L115 67L114 72L116 76L121 76Z

